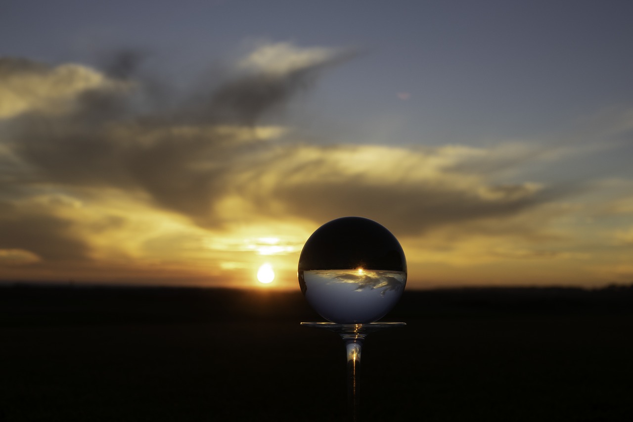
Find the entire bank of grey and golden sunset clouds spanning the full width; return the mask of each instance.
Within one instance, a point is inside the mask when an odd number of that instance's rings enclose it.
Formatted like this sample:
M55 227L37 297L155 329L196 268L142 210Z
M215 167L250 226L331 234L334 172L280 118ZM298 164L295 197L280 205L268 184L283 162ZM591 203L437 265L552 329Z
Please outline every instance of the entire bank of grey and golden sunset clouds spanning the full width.
M384 224L418 263L583 260L586 251L569 246L576 227L560 221L630 212L630 195L619 195L626 182L590 212L565 201L597 185L522 176L578 153L572 143L304 141L277 111L353 54L263 44L229 77L173 98L156 95L169 84L139 71L143 54L115 55L103 72L2 59L0 265L109 260L219 271L204 264L210 253L234 263L224 269L246 271L237 255L296 254L310 228L344 215ZM620 132L596 133L620 139L629 120L625 113ZM580 150L593 151L589 144ZM630 245L628 231L619 236Z

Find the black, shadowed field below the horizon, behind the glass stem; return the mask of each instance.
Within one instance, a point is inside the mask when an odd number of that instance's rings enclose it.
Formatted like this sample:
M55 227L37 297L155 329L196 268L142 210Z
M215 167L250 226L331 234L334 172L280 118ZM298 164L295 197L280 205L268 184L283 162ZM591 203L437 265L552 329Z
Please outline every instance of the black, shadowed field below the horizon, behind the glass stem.
M0 421L341 421L301 293L0 288ZM365 421L633 421L633 288L406 291Z

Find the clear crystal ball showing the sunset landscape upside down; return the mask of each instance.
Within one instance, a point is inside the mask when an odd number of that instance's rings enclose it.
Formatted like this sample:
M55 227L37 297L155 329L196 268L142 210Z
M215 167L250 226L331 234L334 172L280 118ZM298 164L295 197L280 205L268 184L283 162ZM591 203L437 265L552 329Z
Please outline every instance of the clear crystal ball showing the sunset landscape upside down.
M316 229L301 250L299 286L323 318L368 324L391 310L406 285L406 259L384 226L342 217Z

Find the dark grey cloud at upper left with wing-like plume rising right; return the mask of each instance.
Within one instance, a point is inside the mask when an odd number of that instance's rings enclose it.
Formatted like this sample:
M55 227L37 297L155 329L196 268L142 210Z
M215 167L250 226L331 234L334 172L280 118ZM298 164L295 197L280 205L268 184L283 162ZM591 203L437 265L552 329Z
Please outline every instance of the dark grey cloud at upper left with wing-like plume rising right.
M91 85L82 82L84 74L99 82L108 79L81 67L35 67L13 60L11 72L5 72L7 77L0 86L12 87L18 74L35 80L35 86L66 88L51 91L50 101L38 102L27 95L23 100L32 103L30 108L22 107L21 115L15 108L13 114L5 113L14 117L4 134L5 148L32 167L29 179L64 186L136 189L161 207L189 215L201 224L213 224L213 202L231 188L227 177L234 163L258 153L262 140L283 131L256 127L257 118L287 101L315 77L318 68L340 59L329 50L325 54L325 49L315 56L311 49L302 55L301 49L289 44L268 48L277 51L277 56L279 51L291 51L298 59L289 61L292 66L285 65L283 75L242 75L204 94L204 101L191 98L180 108L170 106L149 113L136 106L137 99L144 96L142 81ZM113 75L130 74L131 65L124 67L125 72ZM68 80L58 80L60 69L68 68L83 73L66 72ZM42 112L42 104L60 98L70 107L65 113Z

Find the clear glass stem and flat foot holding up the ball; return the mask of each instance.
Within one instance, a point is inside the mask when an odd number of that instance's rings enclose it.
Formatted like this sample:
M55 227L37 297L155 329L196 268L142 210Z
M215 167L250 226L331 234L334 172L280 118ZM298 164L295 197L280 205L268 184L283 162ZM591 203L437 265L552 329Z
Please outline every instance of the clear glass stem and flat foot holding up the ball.
M301 323L312 328L329 329L338 333L345 343L348 355L348 421L360 422L360 354L363 340L379 329L401 327L406 323L335 324Z

